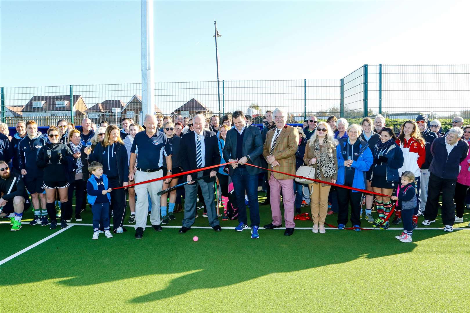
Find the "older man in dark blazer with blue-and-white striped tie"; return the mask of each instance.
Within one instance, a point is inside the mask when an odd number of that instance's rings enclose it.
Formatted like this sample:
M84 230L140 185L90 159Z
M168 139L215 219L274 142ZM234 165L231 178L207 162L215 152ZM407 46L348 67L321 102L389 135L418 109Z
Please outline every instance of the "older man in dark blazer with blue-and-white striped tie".
M180 144L181 166L184 172L197 168L205 168L220 164L219 142L214 132L204 130L205 116L198 114L193 119L194 131L183 135ZM206 169L186 176L188 183L184 186L186 191L184 204L183 226L180 234L187 232L194 224L196 217L197 189L201 187L209 225L215 230L222 230L215 210L214 182L217 168ZM193 181L193 177L204 179Z

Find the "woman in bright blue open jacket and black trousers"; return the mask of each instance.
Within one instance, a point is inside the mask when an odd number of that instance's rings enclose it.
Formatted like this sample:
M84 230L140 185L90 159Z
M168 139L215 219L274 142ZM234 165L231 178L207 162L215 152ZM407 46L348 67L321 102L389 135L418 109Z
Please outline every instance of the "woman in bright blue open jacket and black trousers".
M372 153L368 143L360 140L362 127L352 124L347 129L347 138L339 140L336 148L338 159L337 184L366 188L366 172L373 162ZM349 205L351 205L351 223L356 231L360 231L360 208L362 206L363 192L352 191L345 188L337 189L338 195L338 229L344 229L348 221Z

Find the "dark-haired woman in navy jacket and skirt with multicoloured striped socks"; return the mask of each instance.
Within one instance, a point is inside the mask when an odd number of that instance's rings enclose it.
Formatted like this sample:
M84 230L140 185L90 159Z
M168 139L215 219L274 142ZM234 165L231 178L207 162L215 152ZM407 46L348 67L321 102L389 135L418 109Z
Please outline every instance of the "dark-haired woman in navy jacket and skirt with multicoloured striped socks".
M403 152L396 143L393 130L384 127L380 131L380 140L374 146L374 164L372 166L371 186L374 192L392 195L399 184L398 169L403 166ZM389 222L385 218L392 211L390 197L376 196L376 209L379 218L373 227L387 229Z

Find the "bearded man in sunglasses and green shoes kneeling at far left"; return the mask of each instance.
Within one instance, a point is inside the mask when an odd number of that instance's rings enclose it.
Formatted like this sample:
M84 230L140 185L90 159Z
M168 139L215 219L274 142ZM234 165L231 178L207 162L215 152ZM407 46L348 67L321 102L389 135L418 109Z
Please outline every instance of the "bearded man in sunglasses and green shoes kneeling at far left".
M23 211L30 207L29 197L20 174L10 174L5 161L0 161L0 217L14 213L11 219L11 231L20 230Z

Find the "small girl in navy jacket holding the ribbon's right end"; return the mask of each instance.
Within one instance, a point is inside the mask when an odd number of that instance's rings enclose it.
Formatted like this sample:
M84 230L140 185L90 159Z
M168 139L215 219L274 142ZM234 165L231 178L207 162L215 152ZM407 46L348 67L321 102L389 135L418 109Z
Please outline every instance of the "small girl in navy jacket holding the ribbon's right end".
M390 197L398 201L397 207L401 208L401 220L403 221L403 232L395 236L401 242L411 242L413 235L413 213L416 207L415 175L406 171L401 174L401 186L397 188L397 196Z

